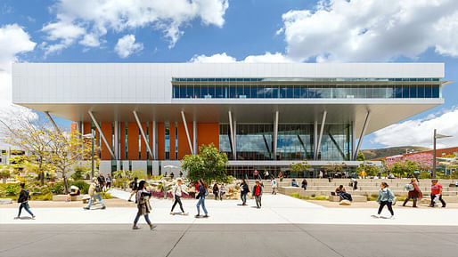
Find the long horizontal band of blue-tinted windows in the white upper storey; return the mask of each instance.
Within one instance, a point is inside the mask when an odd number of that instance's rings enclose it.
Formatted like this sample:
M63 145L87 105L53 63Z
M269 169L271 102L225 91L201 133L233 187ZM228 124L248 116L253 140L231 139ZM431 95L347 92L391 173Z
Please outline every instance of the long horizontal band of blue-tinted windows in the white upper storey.
M438 78L174 78L176 99L440 98Z

